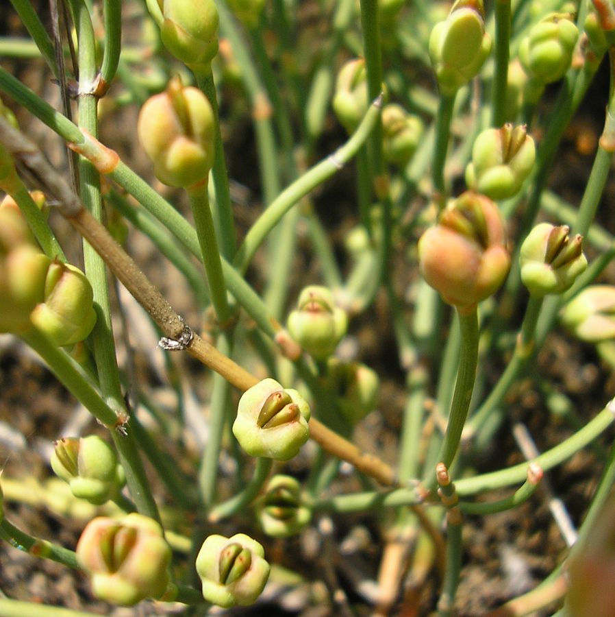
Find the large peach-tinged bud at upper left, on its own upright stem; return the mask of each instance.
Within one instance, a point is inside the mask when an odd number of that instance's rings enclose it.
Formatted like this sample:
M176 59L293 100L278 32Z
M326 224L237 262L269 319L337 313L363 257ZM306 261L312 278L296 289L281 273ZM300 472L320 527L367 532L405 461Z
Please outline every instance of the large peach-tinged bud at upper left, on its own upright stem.
M164 93L145 102L137 132L161 182L189 189L207 180L214 163L214 113L201 90L174 78Z

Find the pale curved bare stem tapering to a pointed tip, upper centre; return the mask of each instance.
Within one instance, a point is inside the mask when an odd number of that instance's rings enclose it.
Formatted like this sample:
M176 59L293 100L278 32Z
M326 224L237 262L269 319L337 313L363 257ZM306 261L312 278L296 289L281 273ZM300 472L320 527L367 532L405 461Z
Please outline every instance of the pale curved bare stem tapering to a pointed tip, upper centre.
M267 234L277 225L283 217L299 199L305 197L312 189L322 184L338 172L363 145L367 136L373 130L377 119L380 116L381 98L374 101L364 119L353 133L349 141L340 147L334 154L329 155L325 160L319 162L314 167L306 171L301 178L290 184L275 201L268 206L259 219L254 223L247 233L244 243L241 245L234 265L238 271L243 272L247 269L256 250L266 238Z

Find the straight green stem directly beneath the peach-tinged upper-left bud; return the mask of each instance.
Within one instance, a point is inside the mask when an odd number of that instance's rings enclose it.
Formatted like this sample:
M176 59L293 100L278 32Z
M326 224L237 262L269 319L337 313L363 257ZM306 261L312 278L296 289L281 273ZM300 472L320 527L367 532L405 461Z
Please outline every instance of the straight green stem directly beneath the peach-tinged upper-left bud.
M210 298L216 311L218 324L221 328L225 328L231 319L231 309L229 309L227 300L227 288L214 230L207 184L201 184L197 188L190 189L188 195L190 196L194 224L197 227L197 237L201 246L201 258L205 266L205 274L207 274Z

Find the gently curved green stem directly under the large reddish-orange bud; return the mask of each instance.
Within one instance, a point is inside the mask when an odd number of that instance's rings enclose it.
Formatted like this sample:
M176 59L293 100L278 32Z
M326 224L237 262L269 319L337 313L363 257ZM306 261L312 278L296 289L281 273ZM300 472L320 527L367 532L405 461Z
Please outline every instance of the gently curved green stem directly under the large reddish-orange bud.
M457 454L457 448L459 448L468 409L470 408L478 361L479 330L476 307L470 309L468 313L457 311L457 316L459 317L461 333L459 370L455 391L453 392L453 401L451 402L449 424L438 454L438 463L444 463L447 468L451 467L451 463L453 463ZM429 474L426 479L427 485L433 487L436 481L435 476L431 470L427 470L427 474Z

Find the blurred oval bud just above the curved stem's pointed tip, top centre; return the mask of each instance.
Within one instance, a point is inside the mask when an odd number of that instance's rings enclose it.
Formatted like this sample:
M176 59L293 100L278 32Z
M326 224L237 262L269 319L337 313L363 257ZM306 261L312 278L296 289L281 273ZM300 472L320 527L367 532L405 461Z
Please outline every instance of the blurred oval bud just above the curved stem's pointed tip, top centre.
M333 110L342 126L351 133L367 112L367 74L365 60L349 60L342 66L336 80Z

